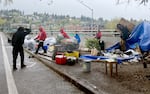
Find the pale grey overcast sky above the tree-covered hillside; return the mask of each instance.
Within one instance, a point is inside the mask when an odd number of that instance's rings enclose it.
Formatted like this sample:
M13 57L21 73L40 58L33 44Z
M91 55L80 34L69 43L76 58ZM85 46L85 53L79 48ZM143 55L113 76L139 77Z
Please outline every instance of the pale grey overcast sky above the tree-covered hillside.
M2 0L4 1L4 0ZM150 7L139 5L138 2L116 4L117 0L13 0L12 4L5 6L0 4L0 9L19 9L26 14L33 12L49 13L58 15L70 15L80 17L81 15L92 17L92 11L85 5L93 9L93 18L103 17L112 19L124 17L126 19L146 19L150 20ZM121 0L125 1L125 0ZM133 1L133 0L130 0Z

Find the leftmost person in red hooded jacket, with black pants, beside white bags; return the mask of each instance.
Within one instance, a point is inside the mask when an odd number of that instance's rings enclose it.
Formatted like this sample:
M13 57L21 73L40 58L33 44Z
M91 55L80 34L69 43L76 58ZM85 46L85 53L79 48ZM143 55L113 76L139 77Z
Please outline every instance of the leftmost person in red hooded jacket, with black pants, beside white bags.
M42 49L44 50L44 53L47 53L47 50L44 48L44 41L45 41L46 37L47 37L47 34L46 34L44 28L40 26L39 34L35 38L35 40L37 40L39 42L35 54L38 53L40 47L42 47Z

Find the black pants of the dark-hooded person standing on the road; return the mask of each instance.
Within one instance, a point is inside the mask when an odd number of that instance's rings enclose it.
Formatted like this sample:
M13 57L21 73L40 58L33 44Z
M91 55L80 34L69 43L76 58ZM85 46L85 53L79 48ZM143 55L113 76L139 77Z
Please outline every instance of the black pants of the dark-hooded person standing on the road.
M21 66L24 65L24 50L23 47L13 47L13 67L16 68L16 60L17 60L17 56L18 53L20 53L20 57L21 57Z

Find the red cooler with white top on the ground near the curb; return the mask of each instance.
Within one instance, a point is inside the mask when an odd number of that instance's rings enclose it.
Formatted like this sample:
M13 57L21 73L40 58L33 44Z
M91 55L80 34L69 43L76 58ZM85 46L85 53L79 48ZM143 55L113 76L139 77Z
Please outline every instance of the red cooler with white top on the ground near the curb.
M60 65L64 65L67 63L67 57L64 55L56 55L55 62Z

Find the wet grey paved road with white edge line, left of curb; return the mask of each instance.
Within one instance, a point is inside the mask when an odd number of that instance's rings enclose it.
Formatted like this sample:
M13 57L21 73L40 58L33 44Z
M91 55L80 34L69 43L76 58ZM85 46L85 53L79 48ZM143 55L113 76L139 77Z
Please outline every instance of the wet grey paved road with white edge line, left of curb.
M12 47L0 32L0 94L84 94L55 72L25 53L26 68L12 71Z

